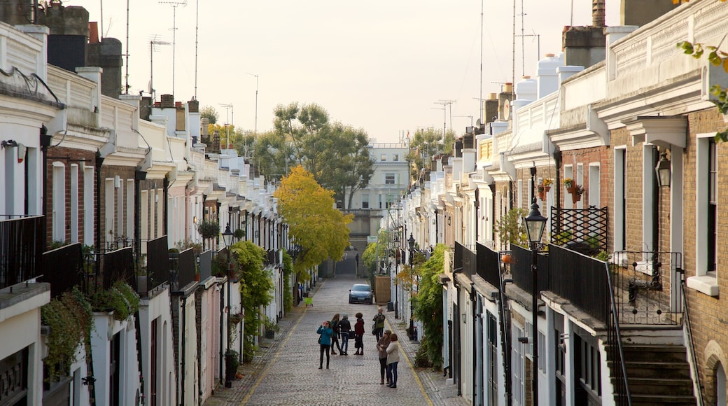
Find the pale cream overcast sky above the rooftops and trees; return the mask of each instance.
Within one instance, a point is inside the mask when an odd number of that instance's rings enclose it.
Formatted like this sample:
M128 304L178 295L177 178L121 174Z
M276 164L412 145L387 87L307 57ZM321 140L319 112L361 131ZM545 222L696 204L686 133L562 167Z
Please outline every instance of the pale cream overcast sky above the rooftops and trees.
M173 92L176 9L175 100L195 96L197 25L197 100L216 108L221 122L256 129L257 85L258 132L272 128L278 104L317 103L377 142L445 123L462 134L480 116L479 97L513 77L536 76L539 44L541 56L558 53L564 25L592 22L591 0L516 0L514 63L507 0L63 1L85 7L103 36L124 46L127 4L130 92L149 86L152 39L170 43L154 52L157 100ZM606 0L607 25L619 24L619 7ZM438 103L448 100L443 110Z

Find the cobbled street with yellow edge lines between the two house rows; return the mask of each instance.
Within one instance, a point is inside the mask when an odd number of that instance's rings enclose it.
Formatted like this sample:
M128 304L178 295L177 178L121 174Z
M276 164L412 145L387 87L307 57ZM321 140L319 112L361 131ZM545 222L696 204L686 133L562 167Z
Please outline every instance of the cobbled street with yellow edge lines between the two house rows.
M294 306L279 320L272 339L262 338L253 362L240 366L242 378L232 388L218 387L205 406L213 405L470 405L457 395L441 371L414 367L419 342L409 341L402 319L386 311L386 327L400 338L399 379L396 389L379 385L376 338L365 334L365 355L355 356L349 340L349 356L331 355L331 370L318 370L320 350L315 333L324 319L348 313L352 327L355 314L364 314L365 331L371 331L376 305L348 304L348 290L365 283L353 275L320 279L309 292L313 306ZM325 359L324 359L325 365Z

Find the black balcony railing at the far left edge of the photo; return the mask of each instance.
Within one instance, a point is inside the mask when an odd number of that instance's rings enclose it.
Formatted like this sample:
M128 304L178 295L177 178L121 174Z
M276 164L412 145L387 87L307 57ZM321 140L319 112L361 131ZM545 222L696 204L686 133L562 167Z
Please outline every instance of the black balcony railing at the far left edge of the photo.
M0 220L0 289L40 274L44 216Z

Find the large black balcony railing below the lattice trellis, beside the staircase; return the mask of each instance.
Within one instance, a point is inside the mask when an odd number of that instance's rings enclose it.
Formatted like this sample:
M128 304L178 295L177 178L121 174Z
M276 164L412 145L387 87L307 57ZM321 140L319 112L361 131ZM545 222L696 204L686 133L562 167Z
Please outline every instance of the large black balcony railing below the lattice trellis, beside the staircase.
M548 252L548 290L606 324L610 299L604 262L554 244Z

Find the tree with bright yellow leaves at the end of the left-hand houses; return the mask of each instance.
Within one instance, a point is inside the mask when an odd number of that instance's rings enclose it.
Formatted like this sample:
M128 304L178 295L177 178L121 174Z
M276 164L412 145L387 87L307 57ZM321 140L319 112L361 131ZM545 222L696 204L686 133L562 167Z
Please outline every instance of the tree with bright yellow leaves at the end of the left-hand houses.
M310 172L300 165L282 178L274 196L290 237L300 247L293 270L299 278L306 271L331 258L341 260L349 247L349 228L353 215L336 210L333 192L321 187Z

